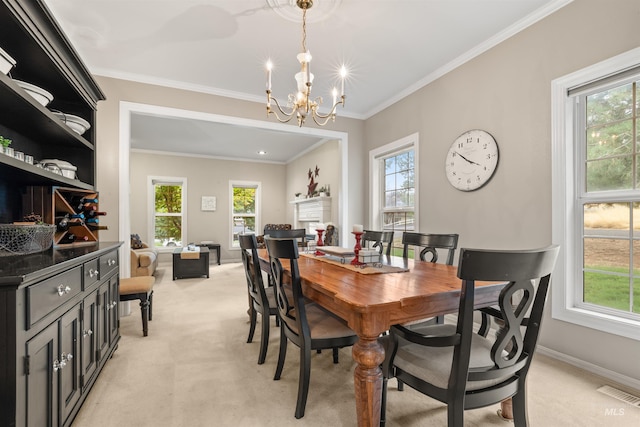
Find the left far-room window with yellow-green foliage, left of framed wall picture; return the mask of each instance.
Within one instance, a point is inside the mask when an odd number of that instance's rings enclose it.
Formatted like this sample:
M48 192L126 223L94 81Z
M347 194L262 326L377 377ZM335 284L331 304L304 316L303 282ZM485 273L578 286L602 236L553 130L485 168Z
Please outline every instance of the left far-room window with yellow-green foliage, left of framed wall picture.
M186 236L186 178L151 178L153 201L153 245L157 248L181 247Z

